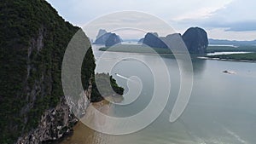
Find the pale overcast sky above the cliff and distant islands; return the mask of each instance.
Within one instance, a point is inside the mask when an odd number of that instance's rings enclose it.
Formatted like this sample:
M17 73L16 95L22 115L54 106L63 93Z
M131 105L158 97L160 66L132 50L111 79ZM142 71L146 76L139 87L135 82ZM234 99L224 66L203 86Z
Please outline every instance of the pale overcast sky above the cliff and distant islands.
M208 37L230 40L256 39L255 0L47 0L61 16L84 26L104 14L140 11L165 20L183 33L191 26L204 28Z

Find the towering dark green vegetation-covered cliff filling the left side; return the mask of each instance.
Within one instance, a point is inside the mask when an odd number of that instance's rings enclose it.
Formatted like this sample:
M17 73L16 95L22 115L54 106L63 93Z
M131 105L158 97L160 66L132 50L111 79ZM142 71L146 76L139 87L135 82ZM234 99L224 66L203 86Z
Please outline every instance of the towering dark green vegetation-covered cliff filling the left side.
M0 18L0 143L58 139L76 121L64 99L61 64L79 27L45 1L3 0ZM89 95L95 61L91 49L86 55L81 77ZM85 109L85 97L71 107Z

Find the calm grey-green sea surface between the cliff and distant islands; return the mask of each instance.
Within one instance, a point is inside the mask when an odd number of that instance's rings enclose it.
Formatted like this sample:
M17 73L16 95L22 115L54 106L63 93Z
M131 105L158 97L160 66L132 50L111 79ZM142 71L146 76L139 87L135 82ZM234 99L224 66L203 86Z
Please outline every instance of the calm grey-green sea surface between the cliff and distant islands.
M96 72L109 72L117 83L127 89L127 79L141 79L141 95L127 106L112 105L109 115L127 117L147 107L154 93L154 78L150 68L135 59L146 60L158 68L165 64L170 73L171 93L164 112L147 128L129 135L105 135L77 124L74 134L62 144L253 144L256 143L256 63L222 60L193 60L194 84L189 104L176 122L170 123L174 101L180 84L177 61L170 55L143 55L107 52L94 46ZM162 63L162 59L165 63ZM121 60L121 61L119 61ZM109 61L119 61L108 71ZM180 67L181 68L181 67ZM186 67L182 67L186 69ZM228 70L236 74L227 74ZM119 77L124 76L125 78ZM126 96L123 103L134 97ZM143 119L142 119L143 120Z

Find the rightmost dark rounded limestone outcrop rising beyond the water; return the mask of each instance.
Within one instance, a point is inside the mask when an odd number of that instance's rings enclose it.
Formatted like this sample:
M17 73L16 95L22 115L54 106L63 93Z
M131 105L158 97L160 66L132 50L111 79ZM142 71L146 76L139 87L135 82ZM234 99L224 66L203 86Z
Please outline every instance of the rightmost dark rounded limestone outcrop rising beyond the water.
M207 52L208 37L207 32L200 27L190 27L183 34L183 41L189 53L205 54Z

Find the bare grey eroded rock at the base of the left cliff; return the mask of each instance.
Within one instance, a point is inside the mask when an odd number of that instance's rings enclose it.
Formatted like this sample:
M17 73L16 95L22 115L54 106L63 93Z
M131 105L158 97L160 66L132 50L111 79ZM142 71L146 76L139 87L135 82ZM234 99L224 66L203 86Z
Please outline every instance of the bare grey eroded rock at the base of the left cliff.
M38 144L47 141L55 141L62 135L69 133L79 119L84 116L90 101L87 97L91 94L91 85L85 90L85 95L74 101L61 97L61 102L42 115L38 127L26 135L21 136L16 144ZM72 110L72 111L71 111ZM74 114L73 114L74 113Z

